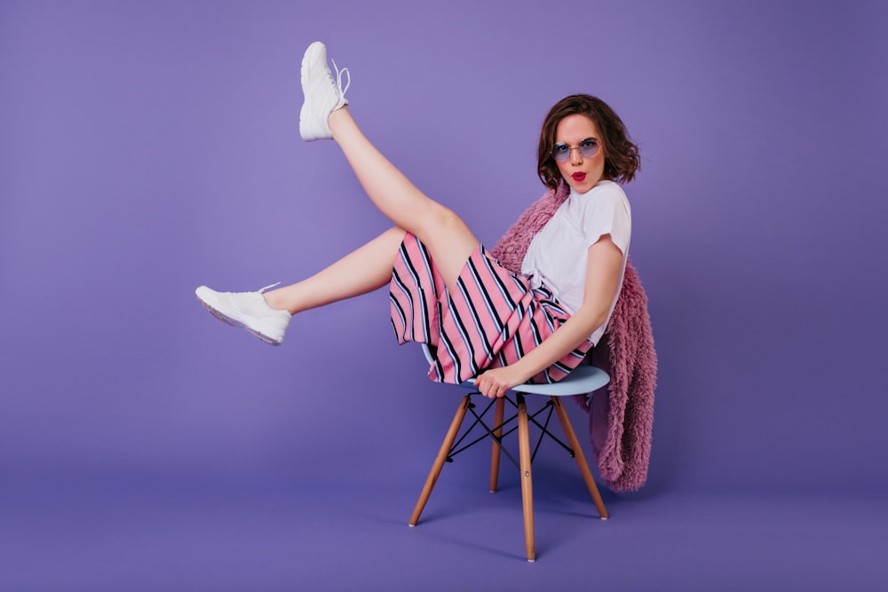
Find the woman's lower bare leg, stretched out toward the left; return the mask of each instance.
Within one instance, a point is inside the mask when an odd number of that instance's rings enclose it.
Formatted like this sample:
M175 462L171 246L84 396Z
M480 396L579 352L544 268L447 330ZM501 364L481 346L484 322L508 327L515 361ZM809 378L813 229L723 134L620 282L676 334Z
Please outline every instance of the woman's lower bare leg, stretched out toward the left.
M266 292L266 302L296 314L382 288L392 279L392 264L403 240L404 231L394 227L312 277Z

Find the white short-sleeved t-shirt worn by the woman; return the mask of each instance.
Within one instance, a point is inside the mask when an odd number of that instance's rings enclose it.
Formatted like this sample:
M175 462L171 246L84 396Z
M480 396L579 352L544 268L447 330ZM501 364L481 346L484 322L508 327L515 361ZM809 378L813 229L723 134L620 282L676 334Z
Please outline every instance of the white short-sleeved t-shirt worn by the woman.
M567 200L530 242L521 264L521 274L530 277L535 288L545 284L567 312L574 314L583 304L588 249L601 236L610 234L622 251L622 268L607 319L589 336L593 345L604 335L620 296L631 233L632 212L626 193L614 181L599 181L586 193L570 190Z

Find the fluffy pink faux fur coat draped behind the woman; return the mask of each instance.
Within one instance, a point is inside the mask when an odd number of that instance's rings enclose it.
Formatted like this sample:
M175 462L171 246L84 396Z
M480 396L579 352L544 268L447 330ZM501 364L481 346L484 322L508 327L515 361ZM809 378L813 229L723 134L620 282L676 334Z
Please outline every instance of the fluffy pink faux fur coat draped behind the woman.
M527 247L567 199L567 185L535 201L496 242L490 254L511 272L521 272ZM595 396L575 398L589 413L592 454L605 485L633 491L645 484L654 424L657 356L647 312L647 296L638 272L626 264L620 296L595 346L591 363L610 375ZM607 396L605 391L607 389Z

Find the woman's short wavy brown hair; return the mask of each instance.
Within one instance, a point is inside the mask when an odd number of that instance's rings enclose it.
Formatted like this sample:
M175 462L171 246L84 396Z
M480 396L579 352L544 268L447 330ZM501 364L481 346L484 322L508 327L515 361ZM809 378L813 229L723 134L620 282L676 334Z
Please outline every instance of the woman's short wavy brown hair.
M629 183L641 169L638 146L629 138L629 132L620 116L603 100L591 95L571 95L559 100L549 110L540 130L540 144L537 148L536 172L543 185L558 189L563 182L558 164L552 158L555 146L555 131L558 124L568 115L580 114L589 117L599 129L601 149L605 151L605 178L617 183Z

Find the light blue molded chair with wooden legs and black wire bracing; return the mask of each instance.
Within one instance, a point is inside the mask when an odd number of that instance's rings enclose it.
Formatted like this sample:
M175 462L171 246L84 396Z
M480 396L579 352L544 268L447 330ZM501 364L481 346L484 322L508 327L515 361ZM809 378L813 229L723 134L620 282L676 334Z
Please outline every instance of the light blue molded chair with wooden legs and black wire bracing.
M422 345L423 351L425 353L425 358L431 364L432 352L429 350L427 344L423 343ZM515 393L514 400L512 400L508 396L503 397L502 399L491 400L488 403L487 407L480 414L475 411L475 406L472 403L472 395L480 395L480 393L475 389L474 385L471 382L460 384L459 386L463 387L464 389L469 389L473 392L465 395L464 398L460 401L459 407L457 407L456 409L456 415L453 418L453 422L450 423L450 428L447 431L447 435L444 437L444 442L441 444L438 456L435 458L435 462L432 464L432 470L429 472L429 477L425 480L423 492L420 493L419 500L416 501L416 507L413 509L413 515L410 517L410 526L416 526L416 523L419 522L419 517L423 513L426 502L429 501L429 496L432 495L432 488L434 488L435 483L438 481L438 476L440 475L441 469L444 466L444 462L452 462L453 457L456 454L459 454L469 446L473 446L474 444L477 444L484 438L488 437L493 439L490 460L491 493L496 492L496 482L499 477L501 452L505 453L506 456L509 457L511 462L518 466L519 470L521 471L521 500L524 507L524 539L525 545L527 547L527 561L533 562L536 559L536 549L534 541L534 492L532 471L530 465L536 455L536 451L539 449L539 446L543 441L543 437L549 436L550 438L554 439L560 446L564 447L567 450L570 456L575 458L576 464L580 468L580 473L583 475L583 480L585 481L586 486L589 488L589 493L591 493L592 501L595 502L595 507L599 511L599 517L601 517L602 520L607 520L607 509L605 509L604 501L601 500L599 489L595 485L595 480L592 478L591 471L589 470L589 465L587 464L586 458L583 455L583 447L580 446L580 443L576 438L574 428L571 426L570 420L567 418L567 411L565 411L564 406L561 404L560 398L571 395L590 393L605 386L609 381L610 378L607 373L605 373L600 368L588 365L581 365L569 375L567 375L567 377L559 381L559 383L522 384L520 387L516 387L512 390ZM525 401L526 395L547 396L549 397L549 401L546 402L545 406L537 411L535 414L528 414L527 404ZM503 422L503 414L506 401L508 401L512 407L515 407L516 414L512 415L509 419ZM484 422L484 416L488 413L490 407L495 407L493 426L488 426L488 424ZM537 416L542 415L547 410L548 414L545 417L544 422L541 423L537 421ZM561 423L561 429L564 430L565 437L567 438L567 444L565 444L554 434L552 434L548 428L552 410L554 410L555 414L557 414L558 416L559 422ZM472 425L464 431L462 437L457 439L456 437L459 434L459 430L463 424L463 420L467 412L471 412L471 414L474 415L475 421L472 422ZM503 428L516 418L518 419L517 428L513 427L503 433ZM540 436L536 442L533 453L531 453L530 451L530 423L535 424L535 426L540 430ZM472 440L465 446L459 447L464 439L469 436L469 434L472 432L472 429L476 425L480 425L485 433L482 434L479 438ZM503 447L503 438L516 429L518 430L519 440L519 462L516 462L509 451Z

